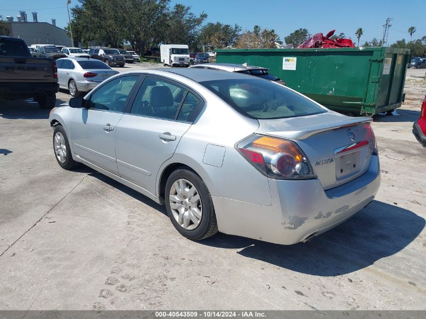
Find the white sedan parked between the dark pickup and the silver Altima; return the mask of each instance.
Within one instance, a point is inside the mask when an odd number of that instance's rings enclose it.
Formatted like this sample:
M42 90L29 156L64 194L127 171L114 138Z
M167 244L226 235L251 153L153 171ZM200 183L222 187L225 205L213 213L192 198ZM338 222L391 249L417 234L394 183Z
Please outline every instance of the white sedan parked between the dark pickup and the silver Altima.
M80 96L118 73L104 62L91 58L61 58L56 63L59 87L69 90L72 96Z

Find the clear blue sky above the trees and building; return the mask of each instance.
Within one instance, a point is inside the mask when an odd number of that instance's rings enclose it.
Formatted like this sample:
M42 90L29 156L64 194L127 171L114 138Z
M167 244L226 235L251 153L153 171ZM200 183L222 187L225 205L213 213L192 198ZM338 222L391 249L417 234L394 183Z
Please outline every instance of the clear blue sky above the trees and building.
M336 29L346 36L355 38L355 30L362 27L364 35L360 42L381 38L386 18L393 18L389 30L388 42L409 40L407 29L415 26L417 31L413 40L426 35L424 0L402 2L396 0L171 0L171 4L183 3L192 6L194 13L206 12L208 22L220 21L227 24L239 24L243 29L252 29L258 24L274 29L283 40L286 35L298 28L307 28L310 33L327 33ZM72 0L75 6L77 0ZM416 9L417 8L417 9ZM19 10L27 12L32 20L31 11L38 12L38 21L50 22L56 19L56 25L64 27L68 16L66 0L0 0L0 15L19 15ZM143 22L141 22L143 23Z

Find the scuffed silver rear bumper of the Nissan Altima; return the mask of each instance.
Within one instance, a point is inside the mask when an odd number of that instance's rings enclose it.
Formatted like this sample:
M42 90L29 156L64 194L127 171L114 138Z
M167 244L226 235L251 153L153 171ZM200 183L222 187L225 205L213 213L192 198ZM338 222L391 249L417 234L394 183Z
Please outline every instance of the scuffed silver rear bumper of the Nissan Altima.
M326 191L319 179L269 179L271 206L212 198L220 232L294 244L344 222L373 201L379 186L379 157L372 156L366 173Z

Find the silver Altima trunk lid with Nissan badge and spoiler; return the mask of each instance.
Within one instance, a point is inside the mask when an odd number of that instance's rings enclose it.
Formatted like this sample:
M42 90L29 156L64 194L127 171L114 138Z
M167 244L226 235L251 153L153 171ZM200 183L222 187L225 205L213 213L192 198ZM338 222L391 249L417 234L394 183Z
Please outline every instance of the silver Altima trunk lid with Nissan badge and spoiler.
M259 120L256 133L292 140L305 152L324 189L342 185L368 170L374 148L369 117L336 112Z

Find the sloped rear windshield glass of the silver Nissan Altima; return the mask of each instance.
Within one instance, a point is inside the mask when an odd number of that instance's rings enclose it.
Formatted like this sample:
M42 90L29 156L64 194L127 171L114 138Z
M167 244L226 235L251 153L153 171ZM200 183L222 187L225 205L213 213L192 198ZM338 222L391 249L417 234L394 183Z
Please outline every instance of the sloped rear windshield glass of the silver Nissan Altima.
M327 112L308 98L262 79L215 80L200 84L251 118L285 118Z

